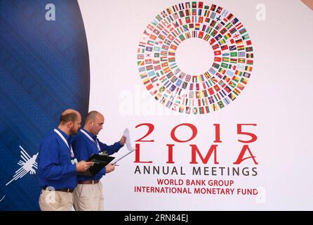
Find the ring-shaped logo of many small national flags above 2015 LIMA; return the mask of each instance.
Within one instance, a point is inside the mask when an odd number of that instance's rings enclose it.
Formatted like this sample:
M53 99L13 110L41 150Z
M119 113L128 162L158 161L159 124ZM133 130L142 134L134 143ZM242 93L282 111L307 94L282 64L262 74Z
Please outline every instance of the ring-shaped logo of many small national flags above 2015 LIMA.
M211 46L214 60L204 73L179 68L175 54L187 39L203 39ZM236 16L193 1L156 15L139 42L137 59L142 83L156 101L180 113L206 114L241 94L251 77L253 47Z

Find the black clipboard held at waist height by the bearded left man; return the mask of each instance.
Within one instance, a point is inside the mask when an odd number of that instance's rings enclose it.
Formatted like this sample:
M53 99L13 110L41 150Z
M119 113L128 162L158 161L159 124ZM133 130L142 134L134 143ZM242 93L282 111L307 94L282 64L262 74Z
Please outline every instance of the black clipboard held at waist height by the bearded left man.
M100 172L100 170L112 160L114 160L114 157L112 156L93 154L88 160L86 160L86 162L95 162L95 164L85 172L79 172L77 174L81 176L95 176L95 174L98 174L98 172Z

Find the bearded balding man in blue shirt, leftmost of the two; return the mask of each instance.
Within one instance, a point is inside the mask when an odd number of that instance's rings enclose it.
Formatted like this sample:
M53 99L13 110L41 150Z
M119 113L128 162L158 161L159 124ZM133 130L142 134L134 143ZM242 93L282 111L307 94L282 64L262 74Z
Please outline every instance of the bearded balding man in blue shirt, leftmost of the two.
M93 162L77 162L69 138L81 127L81 115L65 110L58 128L42 141L38 155L37 177L41 186L39 206L42 211L72 210L77 172L85 172Z

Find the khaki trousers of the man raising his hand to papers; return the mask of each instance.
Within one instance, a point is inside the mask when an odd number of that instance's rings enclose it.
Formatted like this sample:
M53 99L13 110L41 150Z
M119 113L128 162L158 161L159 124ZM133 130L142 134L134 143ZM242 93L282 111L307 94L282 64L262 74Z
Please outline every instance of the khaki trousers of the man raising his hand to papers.
M79 184L74 190L74 209L76 211L105 210L102 184Z

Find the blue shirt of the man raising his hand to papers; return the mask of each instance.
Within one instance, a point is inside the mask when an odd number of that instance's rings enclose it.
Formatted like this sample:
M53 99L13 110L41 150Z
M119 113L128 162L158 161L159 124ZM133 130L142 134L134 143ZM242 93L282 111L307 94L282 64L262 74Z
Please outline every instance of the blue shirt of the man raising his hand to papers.
M94 141L98 141L101 152L106 151L107 155L112 155L113 153L117 153L119 149L123 147L121 143L119 143L119 141L114 143L112 146L107 146L105 143L102 143L101 141L99 141L96 135L89 133L88 131L86 131L86 129L84 129L84 131L89 136L91 136L91 138ZM74 150L74 155L78 161L81 161L81 160L86 161L88 160L89 157L91 157L91 155L99 154L97 144L91 141L90 139L88 139L88 137L81 131L79 131L79 133L76 136L74 136L74 139L72 141L72 147ZM104 175L105 175L105 168L101 169L100 172L98 172L98 174L95 174L95 176L78 175L77 179L79 181L100 180L102 176Z

